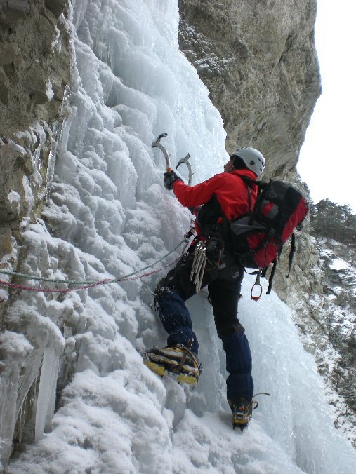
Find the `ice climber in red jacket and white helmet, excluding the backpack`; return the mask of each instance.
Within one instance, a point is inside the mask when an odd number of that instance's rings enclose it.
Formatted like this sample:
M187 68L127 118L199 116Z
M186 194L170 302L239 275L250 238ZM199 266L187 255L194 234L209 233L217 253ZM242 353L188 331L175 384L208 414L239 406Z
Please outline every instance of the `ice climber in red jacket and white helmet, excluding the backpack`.
M233 423L240 428L249 423L253 408L252 360L249 341L237 318L244 268L229 248L224 222L250 211L257 186L247 186L241 176L256 180L264 168L265 158L260 151L248 147L230 156L224 172L196 186L184 184L174 171L164 174L164 187L173 189L178 201L195 213L197 237L154 291L159 318L169 334L167 346L145 353L146 363L154 372L164 374L168 370L176 372L180 381L197 382L201 372L199 344L185 301L197 290L190 279L197 246L204 241L206 266L201 286L207 285L209 290L216 330L226 353L228 403Z

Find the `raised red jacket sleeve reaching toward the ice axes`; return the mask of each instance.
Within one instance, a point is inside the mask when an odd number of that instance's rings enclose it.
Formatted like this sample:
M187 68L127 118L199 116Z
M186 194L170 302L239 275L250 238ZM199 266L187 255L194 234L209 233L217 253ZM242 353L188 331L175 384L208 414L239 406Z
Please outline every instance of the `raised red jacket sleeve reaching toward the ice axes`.
M173 191L181 205L184 205L185 208L192 208L207 203L221 184L223 181L220 175L215 175L195 186L187 186L183 181L176 180L173 184Z

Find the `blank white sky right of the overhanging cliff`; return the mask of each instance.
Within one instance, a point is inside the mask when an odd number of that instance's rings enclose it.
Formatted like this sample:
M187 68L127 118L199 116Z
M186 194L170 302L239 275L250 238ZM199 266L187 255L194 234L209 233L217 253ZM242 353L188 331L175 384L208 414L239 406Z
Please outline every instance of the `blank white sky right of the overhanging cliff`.
M315 41L323 93L301 149L298 172L312 200L329 198L356 212L354 0L318 0ZM352 182L353 180L353 182Z

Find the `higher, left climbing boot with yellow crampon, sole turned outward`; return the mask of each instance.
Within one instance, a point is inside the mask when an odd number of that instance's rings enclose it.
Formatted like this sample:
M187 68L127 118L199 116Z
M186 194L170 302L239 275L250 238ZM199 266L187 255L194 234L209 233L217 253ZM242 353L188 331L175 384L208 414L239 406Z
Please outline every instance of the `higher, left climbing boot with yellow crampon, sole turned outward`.
M183 344L167 346L163 349L152 347L143 353L143 362L156 374L173 375L180 384L195 385L203 368L197 355Z

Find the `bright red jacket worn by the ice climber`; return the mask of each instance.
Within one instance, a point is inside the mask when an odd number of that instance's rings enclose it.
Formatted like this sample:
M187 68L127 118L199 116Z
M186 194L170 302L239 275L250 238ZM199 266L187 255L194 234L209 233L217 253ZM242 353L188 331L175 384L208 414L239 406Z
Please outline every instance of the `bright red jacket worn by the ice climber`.
M253 180L256 180L257 177L251 170L234 170L232 172L222 172L196 186L187 186L182 181L176 180L173 184L173 191L180 204L186 208L194 208L209 203L215 196L225 216L228 219L234 219L250 210L249 191L239 176L246 176ZM253 205L257 197L256 184L251 184L250 188ZM212 215L212 218L216 222L216 213L213 214L214 217ZM211 222L211 224L215 222Z

